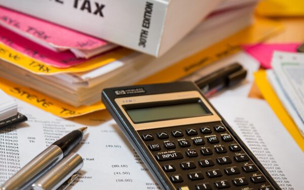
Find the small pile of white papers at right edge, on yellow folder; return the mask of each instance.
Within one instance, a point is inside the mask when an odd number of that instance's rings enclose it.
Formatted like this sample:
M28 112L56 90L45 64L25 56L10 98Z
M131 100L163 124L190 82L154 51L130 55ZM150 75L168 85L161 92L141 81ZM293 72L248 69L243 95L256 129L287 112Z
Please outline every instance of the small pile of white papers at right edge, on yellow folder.
M275 52L267 77L304 136L304 54Z

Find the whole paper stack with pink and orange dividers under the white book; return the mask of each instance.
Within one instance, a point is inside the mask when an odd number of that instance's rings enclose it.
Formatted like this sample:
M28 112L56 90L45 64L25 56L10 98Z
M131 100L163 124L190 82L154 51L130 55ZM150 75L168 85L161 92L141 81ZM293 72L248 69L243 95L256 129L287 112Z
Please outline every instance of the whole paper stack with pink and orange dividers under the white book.
M7 93L61 117L65 110L72 117L103 109L103 88L177 80L238 51L244 39L256 42L276 31L277 23L264 20L242 30L253 21L255 3L226 1L159 58L0 7L0 75L13 82L0 83ZM22 93L32 90L31 98Z

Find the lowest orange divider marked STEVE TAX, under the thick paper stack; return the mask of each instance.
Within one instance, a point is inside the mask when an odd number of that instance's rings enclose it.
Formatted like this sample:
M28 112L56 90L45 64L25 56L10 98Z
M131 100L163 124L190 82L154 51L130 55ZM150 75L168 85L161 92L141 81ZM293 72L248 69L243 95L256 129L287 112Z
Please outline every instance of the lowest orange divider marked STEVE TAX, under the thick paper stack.
M101 101L90 106L83 105L80 107L73 107L35 90L9 82L3 78L0 78L0 88L9 95L51 112L61 118L77 117L93 111L105 109L105 106Z

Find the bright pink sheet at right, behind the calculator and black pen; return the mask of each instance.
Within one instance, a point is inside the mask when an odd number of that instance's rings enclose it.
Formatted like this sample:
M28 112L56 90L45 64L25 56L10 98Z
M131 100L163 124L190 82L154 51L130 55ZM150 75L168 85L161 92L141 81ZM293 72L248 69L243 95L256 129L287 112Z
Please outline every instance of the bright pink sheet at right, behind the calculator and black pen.
M243 49L256 58L264 68L271 68L271 59L274 51L296 52L300 44L255 44L243 45Z

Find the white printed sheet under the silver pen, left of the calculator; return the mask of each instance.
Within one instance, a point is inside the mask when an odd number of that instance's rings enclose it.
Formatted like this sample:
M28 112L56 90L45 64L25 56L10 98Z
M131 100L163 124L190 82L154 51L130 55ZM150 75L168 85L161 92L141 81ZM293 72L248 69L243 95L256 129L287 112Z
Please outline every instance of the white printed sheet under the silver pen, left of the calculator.
M84 159L81 175L71 189L158 189L141 159L115 121L96 117L64 120L18 101L28 121L0 131L0 184L48 145L68 132L88 126L82 143L72 151ZM78 122L78 123L76 123Z

